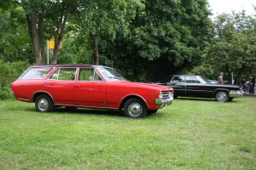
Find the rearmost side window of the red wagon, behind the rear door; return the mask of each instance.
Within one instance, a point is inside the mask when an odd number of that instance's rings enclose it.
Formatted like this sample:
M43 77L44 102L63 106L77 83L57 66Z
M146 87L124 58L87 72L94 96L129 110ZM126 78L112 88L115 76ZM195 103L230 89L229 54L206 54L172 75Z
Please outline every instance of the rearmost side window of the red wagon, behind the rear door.
M20 79L44 79L53 68L31 68Z

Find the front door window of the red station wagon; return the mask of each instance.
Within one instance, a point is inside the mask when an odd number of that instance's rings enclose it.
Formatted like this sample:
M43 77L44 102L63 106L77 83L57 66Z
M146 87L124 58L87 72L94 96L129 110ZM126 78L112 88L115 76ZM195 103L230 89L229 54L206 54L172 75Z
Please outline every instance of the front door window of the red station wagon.
M79 81L102 81L94 68L79 68Z

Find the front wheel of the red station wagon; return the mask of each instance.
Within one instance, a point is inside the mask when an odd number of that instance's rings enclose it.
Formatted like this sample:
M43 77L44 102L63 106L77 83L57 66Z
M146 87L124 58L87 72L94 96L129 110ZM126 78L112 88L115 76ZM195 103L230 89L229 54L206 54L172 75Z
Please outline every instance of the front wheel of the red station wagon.
M124 105L125 116L130 118L143 118L148 113L148 108L141 99L131 98Z

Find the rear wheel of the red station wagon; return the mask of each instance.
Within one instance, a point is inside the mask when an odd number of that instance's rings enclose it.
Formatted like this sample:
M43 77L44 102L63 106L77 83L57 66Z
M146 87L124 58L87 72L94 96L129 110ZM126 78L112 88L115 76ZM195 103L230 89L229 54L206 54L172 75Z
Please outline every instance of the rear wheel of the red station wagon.
M54 105L52 100L48 95L39 95L35 101L36 109L38 112L51 112L54 110Z

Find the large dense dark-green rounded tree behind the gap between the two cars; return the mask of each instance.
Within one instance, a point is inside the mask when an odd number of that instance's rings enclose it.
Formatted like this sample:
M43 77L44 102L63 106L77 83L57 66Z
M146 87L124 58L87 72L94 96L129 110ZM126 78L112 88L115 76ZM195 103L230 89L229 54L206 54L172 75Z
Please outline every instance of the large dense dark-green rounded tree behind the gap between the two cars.
M131 78L159 81L201 64L212 36L206 0L147 0L126 34L107 42L108 59Z

